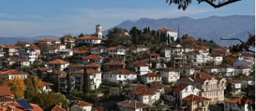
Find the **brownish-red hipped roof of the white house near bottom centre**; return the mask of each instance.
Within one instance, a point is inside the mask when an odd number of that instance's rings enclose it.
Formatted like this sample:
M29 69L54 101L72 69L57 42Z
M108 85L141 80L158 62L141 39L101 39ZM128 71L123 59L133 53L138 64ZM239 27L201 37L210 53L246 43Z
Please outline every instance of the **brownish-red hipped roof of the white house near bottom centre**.
M152 95L156 94L156 92L152 89L148 89L146 86L136 86L132 91L132 94L138 95Z

